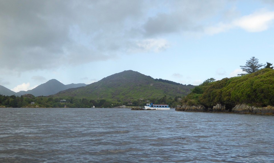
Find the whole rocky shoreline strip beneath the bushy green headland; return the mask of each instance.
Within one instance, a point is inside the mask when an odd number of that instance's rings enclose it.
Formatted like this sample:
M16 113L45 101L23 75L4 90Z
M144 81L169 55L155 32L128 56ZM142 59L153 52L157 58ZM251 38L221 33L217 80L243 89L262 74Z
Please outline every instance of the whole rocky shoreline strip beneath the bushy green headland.
M212 108L206 108L203 105L177 105L176 111L192 111L192 112L213 112L213 113L241 113L241 114L264 114L274 115L274 107L255 107L246 104L239 104L233 108L226 107L225 105L216 104Z

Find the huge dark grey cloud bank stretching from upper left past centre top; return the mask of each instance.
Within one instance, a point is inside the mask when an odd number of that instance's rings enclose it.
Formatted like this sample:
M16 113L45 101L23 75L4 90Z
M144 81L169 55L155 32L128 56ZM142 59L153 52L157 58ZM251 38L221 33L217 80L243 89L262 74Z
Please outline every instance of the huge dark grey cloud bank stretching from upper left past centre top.
M223 1L0 1L0 62L17 72L109 60L153 46L196 23ZM149 46L151 48L155 48ZM164 49L163 49L164 50Z

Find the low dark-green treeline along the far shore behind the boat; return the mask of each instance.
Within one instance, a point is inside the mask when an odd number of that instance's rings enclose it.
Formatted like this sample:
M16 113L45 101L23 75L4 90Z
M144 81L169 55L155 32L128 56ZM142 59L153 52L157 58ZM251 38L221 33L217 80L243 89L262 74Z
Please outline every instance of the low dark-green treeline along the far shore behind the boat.
M156 99L152 98L149 99L149 102L157 103L157 104L168 104L170 107L176 107L178 104L180 104L181 97L167 97L166 95L162 98ZM35 97L31 94L15 96L5 96L0 94L0 107L53 107L53 108L59 108L59 107L69 107L69 108L91 108L93 106L98 108L112 108L112 107L118 107L121 105L127 105L127 106L140 106L143 107L148 103L148 101L139 99L134 101L120 101L120 102L113 102L113 101L107 101L105 99L100 100L93 100L93 99L78 99L74 97L68 97L68 98L54 98L50 96L39 96Z

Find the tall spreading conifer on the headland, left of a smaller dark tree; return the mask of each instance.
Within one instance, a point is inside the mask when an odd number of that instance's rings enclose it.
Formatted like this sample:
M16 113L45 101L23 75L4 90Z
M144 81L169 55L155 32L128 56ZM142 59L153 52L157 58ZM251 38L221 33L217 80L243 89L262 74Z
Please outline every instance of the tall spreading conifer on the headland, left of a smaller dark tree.
M259 60L255 57L250 58L250 60L247 60L245 62L245 66L240 66L241 69L245 72L246 74L251 74L253 72L256 72L260 69L260 67L265 66L265 64L259 64ZM246 75L246 74L238 74L238 76Z

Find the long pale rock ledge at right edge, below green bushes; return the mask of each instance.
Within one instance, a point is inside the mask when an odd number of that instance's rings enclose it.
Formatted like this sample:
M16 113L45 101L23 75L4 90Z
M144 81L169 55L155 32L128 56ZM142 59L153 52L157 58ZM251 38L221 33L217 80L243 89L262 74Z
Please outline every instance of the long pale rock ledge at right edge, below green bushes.
M274 114L274 107L273 106L255 107L255 106L248 106L246 104L239 104L232 109L232 112L243 113L243 114Z

